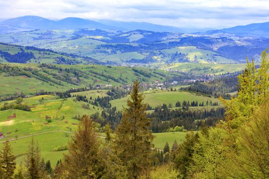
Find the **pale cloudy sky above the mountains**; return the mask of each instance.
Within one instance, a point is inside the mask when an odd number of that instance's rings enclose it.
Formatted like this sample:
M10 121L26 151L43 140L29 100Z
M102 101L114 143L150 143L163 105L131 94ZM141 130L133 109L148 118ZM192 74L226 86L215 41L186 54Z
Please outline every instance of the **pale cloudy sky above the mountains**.
M0 18L24 15L219 29L269 21L269 0L0 0Z

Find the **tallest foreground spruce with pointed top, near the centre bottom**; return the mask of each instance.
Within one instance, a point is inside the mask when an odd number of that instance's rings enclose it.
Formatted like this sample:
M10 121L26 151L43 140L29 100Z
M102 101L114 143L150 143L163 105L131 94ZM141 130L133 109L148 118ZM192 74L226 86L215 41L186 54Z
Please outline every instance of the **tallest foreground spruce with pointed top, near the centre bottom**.
M147 104L142 101L143 96L139 94L139 83L136 80L133 84L131 100L127 100L128 108L123 109L114 141L116 154L127 167L129 178L149 174L154 137L150 130L151 120L146 117Z

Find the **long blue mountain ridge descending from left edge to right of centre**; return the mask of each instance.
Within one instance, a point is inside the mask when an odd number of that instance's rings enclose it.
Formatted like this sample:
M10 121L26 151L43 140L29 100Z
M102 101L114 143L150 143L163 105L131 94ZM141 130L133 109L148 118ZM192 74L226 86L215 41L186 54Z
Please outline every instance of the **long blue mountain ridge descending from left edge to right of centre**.
M22 16L0 21L0 25L17 29L112 29L112 30L147 30L155 32L179 32L193 33L205 31L202 29L178 28L173 26L162 26L144 22L125 22L117 20L89 20L77 17L68 17L61 20L50 20L39 16ZM208 29L207 29L208 30ZM4 31L4 30L3 30ZM8 31L8 29L6 29Z

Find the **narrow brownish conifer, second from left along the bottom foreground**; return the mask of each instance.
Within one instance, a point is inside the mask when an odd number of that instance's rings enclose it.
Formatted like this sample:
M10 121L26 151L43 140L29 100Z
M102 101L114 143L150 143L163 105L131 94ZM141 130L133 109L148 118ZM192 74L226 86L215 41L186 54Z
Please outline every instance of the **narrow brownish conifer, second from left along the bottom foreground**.
M32 138L29 145L29 151L26 154L26 177L30 179L43 178L44 170L42 168L42 159L38 143Z

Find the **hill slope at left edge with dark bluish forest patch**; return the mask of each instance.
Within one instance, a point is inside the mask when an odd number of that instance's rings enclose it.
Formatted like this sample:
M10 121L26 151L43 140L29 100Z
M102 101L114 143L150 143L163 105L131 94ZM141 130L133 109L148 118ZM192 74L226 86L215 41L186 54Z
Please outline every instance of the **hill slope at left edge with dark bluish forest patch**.
M91 57L55 52L30 46L17 46L0 42L0 62L56 63L56 64L106 64Z

